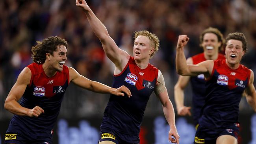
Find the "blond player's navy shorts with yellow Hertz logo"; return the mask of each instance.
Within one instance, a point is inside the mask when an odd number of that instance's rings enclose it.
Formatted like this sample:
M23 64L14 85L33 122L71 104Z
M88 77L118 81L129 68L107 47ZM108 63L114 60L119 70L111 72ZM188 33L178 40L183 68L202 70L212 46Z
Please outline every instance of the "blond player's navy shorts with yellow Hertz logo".
M139 144L139 136L125 135L100 127L100 142L106 140L115 142L115 144Z

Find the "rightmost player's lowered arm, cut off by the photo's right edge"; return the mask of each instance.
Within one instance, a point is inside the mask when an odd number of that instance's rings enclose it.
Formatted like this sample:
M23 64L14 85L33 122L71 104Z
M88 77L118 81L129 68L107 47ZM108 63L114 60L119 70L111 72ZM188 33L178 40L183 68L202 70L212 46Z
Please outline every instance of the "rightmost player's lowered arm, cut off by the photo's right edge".
M252 109L256 112L256 90L253 85L254 81L254 73L252 70L250 70L250 80L249 80L249 85L245 89L245 97L249 105L252 107Z

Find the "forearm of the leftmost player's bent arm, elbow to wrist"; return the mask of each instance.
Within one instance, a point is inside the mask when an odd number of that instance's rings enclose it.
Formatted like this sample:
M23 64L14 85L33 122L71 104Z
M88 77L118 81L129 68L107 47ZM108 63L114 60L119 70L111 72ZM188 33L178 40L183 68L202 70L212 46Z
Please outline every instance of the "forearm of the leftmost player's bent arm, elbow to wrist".
M30 109L26 108L26 107L22 107L17 101L15 100L10 100L4 103L4 108L13 113L13 114L17 114L20 116L28 116L28 111L30 111Z

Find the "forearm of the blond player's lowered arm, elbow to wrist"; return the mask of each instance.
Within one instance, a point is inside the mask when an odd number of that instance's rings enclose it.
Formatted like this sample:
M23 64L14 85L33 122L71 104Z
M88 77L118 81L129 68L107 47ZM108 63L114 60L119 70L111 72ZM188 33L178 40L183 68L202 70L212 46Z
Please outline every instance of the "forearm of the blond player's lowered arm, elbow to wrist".
M172 128L173 126L175 127L175 114L174 114L173 104L171 103L171 101L163 105L163 113L165 115L165 118L170 128Z

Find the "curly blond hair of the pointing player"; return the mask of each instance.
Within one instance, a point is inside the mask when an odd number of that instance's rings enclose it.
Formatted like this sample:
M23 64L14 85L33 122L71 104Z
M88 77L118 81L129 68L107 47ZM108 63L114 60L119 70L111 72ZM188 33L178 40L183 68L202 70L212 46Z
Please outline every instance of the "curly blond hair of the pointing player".
M139 36L139 35L142 35L142 36L145 36L145 37L148 37L148 39L151 41L151 42L153 42L153 44L154 45L152 45L154 48L155 48L155 50L154 50L154 52L150 55L150 59L152 58L152 57L154 57L154 55L158 52L158 50L159 50L159 39L158 39L158 37L155 35L155 34L153 34L153 33L150 33L149 31L147 31L147 30L142 30L142 31L135 31L134 32L135 33L135 35L134 35L134 41L135 41L135 39Z

